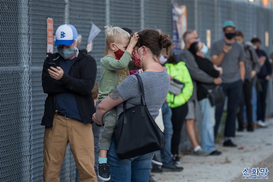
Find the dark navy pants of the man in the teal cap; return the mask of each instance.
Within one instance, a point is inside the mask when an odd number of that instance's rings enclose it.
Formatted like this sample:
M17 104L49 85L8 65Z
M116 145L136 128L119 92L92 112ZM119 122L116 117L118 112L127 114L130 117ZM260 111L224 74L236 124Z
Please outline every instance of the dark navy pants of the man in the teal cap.
M235 119L237 115L237 109L241 99L242 93L242 81L241 79L234 83L222 83L223 91L228 97L227 100L227 119L225 124L224 136L234 137L235 136ZM218 133L218 127L221 122L221 117L223 114L224 102L216 106L215 111L215 126L214 126L214 136L216 138Z

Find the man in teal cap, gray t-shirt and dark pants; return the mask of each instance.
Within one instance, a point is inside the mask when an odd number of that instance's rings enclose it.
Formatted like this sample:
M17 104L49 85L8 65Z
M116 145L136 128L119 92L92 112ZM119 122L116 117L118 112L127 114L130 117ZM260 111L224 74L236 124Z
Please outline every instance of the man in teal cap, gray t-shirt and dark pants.
M236 147L231 141L235 136L235 119L241 98L242 83L244 82L244 49L235 41L235 24L225 21L223 24L224 39L215 42L211 47L211 60L213 64L223 68L222 88L228 97L227 118L224 130L224 146ZM218 127L223 113L224 103L216 106L214 136L217 136Z

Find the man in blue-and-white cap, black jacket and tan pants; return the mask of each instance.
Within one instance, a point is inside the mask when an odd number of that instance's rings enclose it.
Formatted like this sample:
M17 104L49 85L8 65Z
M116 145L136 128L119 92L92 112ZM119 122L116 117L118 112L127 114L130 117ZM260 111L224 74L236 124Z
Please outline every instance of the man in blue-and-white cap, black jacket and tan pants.
M92 115L96 112L91 96L96 80L96 61L79 50L81 42L73 25L56 30L58 52L48 53L42 70L42 86L48 96L41 125L44 136L44 181L59 181L59 172L70 148L80 181L97 181L94 170Z

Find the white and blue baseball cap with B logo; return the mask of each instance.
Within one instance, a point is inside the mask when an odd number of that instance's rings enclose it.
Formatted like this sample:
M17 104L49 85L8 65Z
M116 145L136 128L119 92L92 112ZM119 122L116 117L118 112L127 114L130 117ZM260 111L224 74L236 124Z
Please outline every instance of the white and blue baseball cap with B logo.
M78 37L78 32L73 25L60 25L56 30L55 45L71 45Z

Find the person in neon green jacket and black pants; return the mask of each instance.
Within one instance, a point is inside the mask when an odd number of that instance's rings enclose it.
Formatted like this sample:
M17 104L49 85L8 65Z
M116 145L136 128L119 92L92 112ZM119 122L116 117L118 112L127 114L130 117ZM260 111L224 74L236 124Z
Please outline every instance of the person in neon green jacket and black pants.
M172 110L173 136L171 141L171 152L174 162L179 163L178 146L180 143L180 131L188 112L187 101L193 92L193 83L185 62L178 62L174 53L170 54L165 64L170 79L183 82L184 88L179 95L168 93L167 102Z

